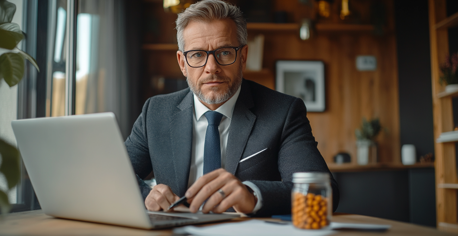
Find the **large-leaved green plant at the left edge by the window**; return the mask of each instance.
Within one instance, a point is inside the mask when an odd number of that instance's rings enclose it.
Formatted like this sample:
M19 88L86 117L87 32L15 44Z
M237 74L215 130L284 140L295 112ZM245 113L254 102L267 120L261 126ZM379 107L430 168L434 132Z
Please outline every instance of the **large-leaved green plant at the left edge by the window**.
M0 82L4 79L10 87L22 80L24 59L29 60L38 70L35 59L16 47L24 35L18 24L11 23L15 12L16 5L6 0L0 0ZM7 193L16 186L20 179L20 162L19 151L16 147L1 138L0 160L0 173L5 176L7 183L6 189L0 189L0 210L2 214L5 214L11 209Z

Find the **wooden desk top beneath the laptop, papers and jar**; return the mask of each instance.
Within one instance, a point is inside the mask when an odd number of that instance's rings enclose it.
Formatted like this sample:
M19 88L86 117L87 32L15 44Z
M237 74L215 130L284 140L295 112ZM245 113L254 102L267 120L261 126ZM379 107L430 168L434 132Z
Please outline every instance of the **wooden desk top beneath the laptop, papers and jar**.
M251 218L238 218L232 221L250 220ZM267 218L258 218L267 219ZM392 228L387 232L359 232L359 231L341 231L335 236L452 236L454 234L437 231L434 228L419 226L409 223L403 223L394 220L384 220L380 218L363 216L363 215L347 215L336 214L333 216L333 221L345 223L372 223L392 225ZM167 230L140 230L134 228L127 228L114 225L104 225L90 222L82 222L77 220L64 220L44 215L41 210L27 211L20 213L11 213L0 219L0 235L130 235L130 236L172 236L171 229Z

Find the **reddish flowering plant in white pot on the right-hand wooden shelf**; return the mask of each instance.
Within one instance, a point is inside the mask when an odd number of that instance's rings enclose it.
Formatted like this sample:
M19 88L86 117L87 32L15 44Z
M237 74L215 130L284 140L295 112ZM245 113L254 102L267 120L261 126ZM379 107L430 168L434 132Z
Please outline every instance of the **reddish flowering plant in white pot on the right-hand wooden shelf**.
M458 91L458 54L454 53L452 56L447 55L445 62L441 64L440 69L442 71L442 76L440 77L439 82L441 84L445 83L446 92Z

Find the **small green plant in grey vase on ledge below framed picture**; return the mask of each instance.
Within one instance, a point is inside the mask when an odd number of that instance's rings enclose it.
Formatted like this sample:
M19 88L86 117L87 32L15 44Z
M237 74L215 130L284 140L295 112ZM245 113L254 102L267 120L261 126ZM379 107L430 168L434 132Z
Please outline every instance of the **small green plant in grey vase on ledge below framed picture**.
M359 165L367 165L377 162L376 136L380 133L380 120L378 118L367 121L363 118L360 129L355 130L356 134L356 160Z

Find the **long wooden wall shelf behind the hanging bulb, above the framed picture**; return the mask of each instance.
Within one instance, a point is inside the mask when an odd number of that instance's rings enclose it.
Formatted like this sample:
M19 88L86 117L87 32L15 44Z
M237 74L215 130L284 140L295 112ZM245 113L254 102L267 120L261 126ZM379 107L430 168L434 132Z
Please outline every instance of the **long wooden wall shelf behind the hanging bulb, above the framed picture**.
M300 24L298 23L247 23L248 30L276 32L291 31L298 32ZM317 23L315 24L318 32L371 32L374 30L373 25L360 24L340 24L340 23Z

